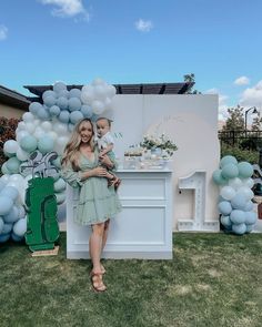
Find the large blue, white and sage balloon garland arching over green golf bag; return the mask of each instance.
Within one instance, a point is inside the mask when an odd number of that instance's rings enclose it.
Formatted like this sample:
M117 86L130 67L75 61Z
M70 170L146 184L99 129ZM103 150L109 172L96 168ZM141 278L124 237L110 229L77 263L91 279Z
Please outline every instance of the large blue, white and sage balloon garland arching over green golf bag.
M21 233L26 217L26 211L21 207L24 206L28 181L32 175L21 174L20 167L30 161L30 153L36 150L43 155L57 152L59 157L52 164L60 170L61 155L74 125L83 117L95 120L104 111L111 110L115 93L115 88L101 79L95 79L82 90L68 90L64 83L57 82L53 90L43 92L43 104L32 102L29 105L29 112L23 114L16 130L16 140L9 140L3 144L8 160L1 167L3 176L0 178L0 242L10 237L19 241L26 232ZM66 200L64 190L66 182L58 173L54 178L58 204ZM23 221L19 223L19 219ZM14 228L16 224L20 227Z

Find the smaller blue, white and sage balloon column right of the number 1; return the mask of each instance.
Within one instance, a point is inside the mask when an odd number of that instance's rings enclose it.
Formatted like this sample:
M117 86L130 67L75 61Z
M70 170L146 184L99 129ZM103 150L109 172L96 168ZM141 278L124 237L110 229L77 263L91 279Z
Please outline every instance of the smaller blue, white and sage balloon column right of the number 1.
M222 157L220 168L213 172L213 181L220 186L221 224L238 235L250 233L258 219L252 202L252 175L253 166L248 162L238 163L232 155Z

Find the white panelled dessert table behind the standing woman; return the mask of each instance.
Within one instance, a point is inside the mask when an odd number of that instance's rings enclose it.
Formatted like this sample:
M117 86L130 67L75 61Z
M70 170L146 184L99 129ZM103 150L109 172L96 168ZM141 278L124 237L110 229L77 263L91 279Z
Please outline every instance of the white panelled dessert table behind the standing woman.
M120 170L122 212L111 219L104 258L172 258L172 172ZM89 226L73 215L79 191L67 190L67 257L89 258Z

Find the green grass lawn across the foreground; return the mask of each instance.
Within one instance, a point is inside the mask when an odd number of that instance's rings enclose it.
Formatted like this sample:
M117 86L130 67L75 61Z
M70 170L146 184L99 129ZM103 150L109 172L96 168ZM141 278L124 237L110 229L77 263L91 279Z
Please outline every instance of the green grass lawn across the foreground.
M172 260L104 260L93 293L90 260L31 257L0 245L0 326L262 326L262 234L175 233Z

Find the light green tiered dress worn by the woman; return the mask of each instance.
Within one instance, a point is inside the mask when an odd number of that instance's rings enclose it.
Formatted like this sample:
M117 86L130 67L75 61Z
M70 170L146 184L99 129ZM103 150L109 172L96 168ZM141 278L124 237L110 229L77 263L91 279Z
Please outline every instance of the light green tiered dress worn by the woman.
M112 156L110 160L117 167L115 160ZM114 187L108 186L108 180L95 176L81 181L82 172L99 165L98 150L94 150L93 161L80 154L79 165L79 172L73 171L70 163L62 170L62 177L69 185L80 187L75 222L80 225L93 225L114 217L121 211L121 203Z

